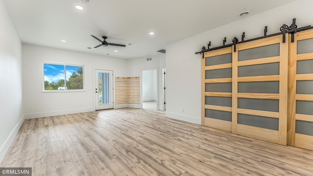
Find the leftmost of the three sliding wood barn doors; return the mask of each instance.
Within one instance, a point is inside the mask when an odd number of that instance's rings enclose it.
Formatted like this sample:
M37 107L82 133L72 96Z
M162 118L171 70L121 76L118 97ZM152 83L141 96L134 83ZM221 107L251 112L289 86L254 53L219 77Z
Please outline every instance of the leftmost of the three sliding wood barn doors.
M232 49L204 53L202 59L202 125L231 131Z

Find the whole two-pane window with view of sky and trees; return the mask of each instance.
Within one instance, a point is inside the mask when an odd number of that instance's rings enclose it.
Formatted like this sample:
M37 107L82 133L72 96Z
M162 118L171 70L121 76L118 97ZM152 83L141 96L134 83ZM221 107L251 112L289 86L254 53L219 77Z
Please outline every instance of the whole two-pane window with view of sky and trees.
M44 63L44 90L84 90L84 66Z

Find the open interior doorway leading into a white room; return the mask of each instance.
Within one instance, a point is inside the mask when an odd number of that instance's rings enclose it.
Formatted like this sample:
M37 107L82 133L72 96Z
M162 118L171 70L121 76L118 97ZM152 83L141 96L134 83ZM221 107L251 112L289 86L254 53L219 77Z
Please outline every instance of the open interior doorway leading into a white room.
M157 69L142 70L142 108L157 110Z

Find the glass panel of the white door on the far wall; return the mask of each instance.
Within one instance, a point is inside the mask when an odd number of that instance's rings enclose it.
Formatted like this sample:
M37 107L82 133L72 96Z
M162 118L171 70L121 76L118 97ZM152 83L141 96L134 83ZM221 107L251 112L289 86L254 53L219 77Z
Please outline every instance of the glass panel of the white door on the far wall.
M99 73L99 105L110 104L110 77L109 73Z

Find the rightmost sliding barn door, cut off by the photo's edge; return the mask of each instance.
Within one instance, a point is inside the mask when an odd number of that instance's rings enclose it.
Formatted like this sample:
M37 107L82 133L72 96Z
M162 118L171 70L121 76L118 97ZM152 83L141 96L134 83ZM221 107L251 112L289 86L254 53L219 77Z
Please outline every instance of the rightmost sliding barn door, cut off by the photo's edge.
M313 30L294 35L289 74L288 144L313 150Z

